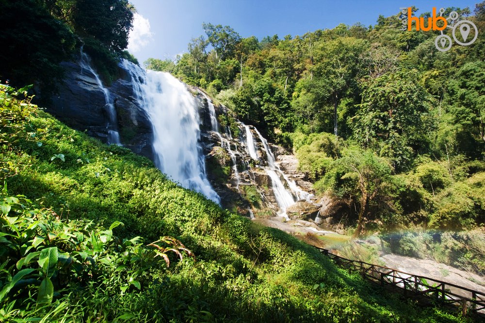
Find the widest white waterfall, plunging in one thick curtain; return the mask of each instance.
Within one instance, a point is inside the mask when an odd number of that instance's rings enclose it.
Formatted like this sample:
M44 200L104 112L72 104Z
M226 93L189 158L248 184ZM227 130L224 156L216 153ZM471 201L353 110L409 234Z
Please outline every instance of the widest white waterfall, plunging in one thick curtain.
M168 73L146 71L126 60L133 92L153 127L155 165L180 185L220 203L205 173L199 115L192 94ZM217 123L216 123L217 124Z

